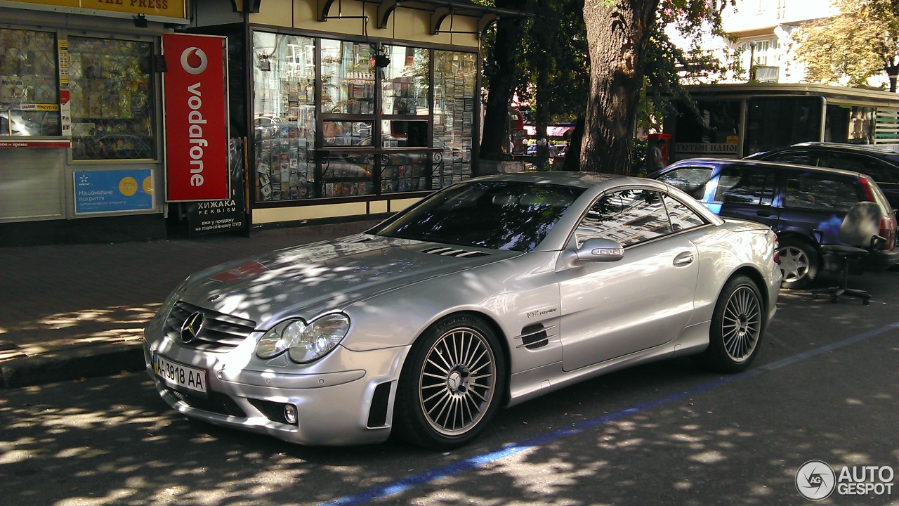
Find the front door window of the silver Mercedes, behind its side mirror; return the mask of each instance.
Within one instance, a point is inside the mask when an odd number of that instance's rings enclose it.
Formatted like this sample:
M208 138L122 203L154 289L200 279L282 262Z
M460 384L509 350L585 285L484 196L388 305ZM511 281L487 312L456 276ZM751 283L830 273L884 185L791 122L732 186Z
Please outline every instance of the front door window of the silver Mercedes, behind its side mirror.
M580 247L587 239L614 239L625 247L670 234L661 195L648 190L605 194L574 230Z

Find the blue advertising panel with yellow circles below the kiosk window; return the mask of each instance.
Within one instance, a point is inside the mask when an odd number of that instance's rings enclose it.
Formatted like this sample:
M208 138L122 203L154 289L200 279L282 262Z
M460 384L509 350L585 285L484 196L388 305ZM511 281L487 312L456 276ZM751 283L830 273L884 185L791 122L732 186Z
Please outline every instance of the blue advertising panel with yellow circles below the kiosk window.
M153 209L153 169L79 170L75 173L75 212Z

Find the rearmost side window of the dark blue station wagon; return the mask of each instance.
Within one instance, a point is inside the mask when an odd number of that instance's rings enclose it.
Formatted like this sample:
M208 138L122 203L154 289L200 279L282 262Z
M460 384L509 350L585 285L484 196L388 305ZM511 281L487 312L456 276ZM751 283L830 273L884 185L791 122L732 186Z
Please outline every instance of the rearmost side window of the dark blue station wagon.
M848 211L860 200L855 178L797 172L787 179L784 206L821 211Z

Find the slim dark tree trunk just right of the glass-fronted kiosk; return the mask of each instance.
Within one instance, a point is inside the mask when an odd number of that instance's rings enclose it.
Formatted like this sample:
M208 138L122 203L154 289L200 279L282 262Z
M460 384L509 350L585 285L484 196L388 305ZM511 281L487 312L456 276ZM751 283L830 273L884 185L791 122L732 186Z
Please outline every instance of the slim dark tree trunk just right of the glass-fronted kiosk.
M497 7L506 2L496 2ZM512 5L519 6L517 2ZM490 77L487 104L484 111L484 133L481 136L480 158L499 160L503 157L503 144L508 143L509 104L518 79L516 59L521 54L522 22L519 18L500 18L496 22L494 62L499 72ZM508 149L507 146L505 146Z

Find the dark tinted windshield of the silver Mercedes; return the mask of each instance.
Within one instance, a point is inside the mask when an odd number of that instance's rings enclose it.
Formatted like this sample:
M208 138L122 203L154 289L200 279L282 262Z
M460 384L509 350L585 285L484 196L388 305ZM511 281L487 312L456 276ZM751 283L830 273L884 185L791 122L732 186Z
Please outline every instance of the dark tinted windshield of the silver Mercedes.
M583 188L521 181L454 185L371 230L382 236L459 246L530 251Z

